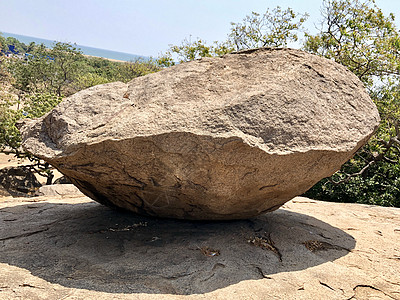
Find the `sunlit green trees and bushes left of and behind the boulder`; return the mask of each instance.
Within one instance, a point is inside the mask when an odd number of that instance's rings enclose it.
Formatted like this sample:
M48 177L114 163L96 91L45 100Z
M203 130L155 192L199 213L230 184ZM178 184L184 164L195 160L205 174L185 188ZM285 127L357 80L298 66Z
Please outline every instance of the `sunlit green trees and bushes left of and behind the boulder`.
M18 55L5 57L2 54L10 44ZM31 168L47 177L50 184L50 166L21 149L17 122L46 114L63 97L79 90L107 82L128 82L158 70L153 60L116 62L84 56L67 43L55 43L52 48L35 43L27 46L0 35L0 152L28 158L33 162Z

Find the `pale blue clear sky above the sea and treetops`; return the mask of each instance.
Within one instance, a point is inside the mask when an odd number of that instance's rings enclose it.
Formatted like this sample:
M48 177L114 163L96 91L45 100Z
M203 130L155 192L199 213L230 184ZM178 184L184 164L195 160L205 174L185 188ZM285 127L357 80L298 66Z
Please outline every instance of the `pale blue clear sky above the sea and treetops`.
M252 11L291 7L307 12L312 33L323 0L0 0L0 32L156 57L170 44L201 38L223 41L231 22ZM376 0L397 16L400 1Z

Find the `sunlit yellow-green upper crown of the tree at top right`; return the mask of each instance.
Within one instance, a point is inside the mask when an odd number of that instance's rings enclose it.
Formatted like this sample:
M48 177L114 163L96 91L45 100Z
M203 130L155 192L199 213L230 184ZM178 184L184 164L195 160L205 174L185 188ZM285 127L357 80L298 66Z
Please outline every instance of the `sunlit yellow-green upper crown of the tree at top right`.
M400 74L400 37L395 16L374 1L325 0L320 33L307 35L305 50L334 59L368 87L374 76Z

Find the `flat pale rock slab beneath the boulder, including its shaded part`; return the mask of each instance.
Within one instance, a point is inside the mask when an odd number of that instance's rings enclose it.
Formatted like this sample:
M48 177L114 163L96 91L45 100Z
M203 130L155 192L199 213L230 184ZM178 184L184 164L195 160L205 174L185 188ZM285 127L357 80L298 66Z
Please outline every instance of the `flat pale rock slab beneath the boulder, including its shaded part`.
M250 220L194 222L7 198L0 299L393 300L399 245L396 208L298 197Z

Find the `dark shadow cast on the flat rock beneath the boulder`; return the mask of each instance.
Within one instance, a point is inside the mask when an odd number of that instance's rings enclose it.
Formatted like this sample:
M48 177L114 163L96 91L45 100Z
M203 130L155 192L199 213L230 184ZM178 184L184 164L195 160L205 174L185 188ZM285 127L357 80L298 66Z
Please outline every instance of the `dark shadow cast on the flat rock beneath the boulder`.
M0 262L110 293L207 293L333 261L354 246L344 231L284 209L224 222L147 218L96 202L0 210Z

